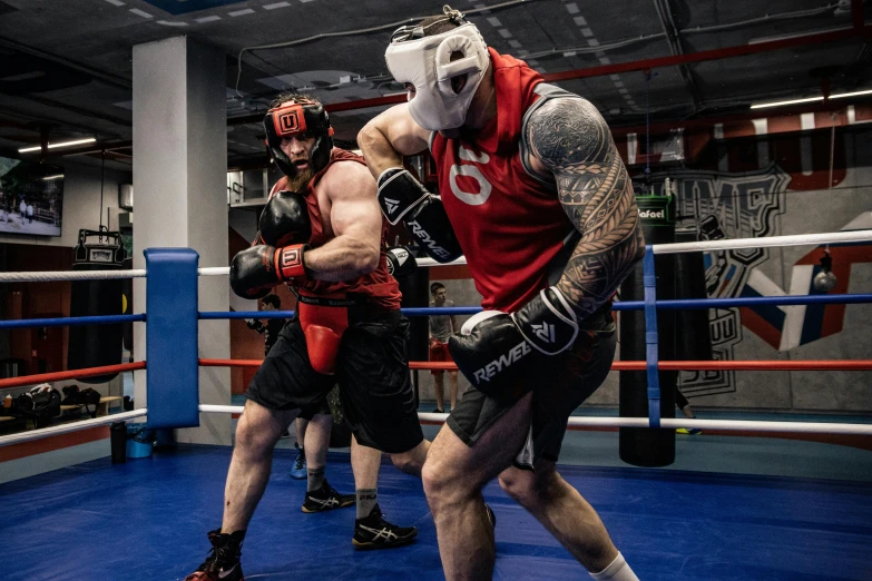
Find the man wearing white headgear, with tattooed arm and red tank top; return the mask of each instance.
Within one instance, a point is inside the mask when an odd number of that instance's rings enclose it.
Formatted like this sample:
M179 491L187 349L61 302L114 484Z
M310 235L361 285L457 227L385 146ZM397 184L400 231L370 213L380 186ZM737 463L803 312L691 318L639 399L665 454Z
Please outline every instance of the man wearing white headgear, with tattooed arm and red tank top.
M439 262L467 257L484 312L449 348L473 386L423 480L445 577L490 578L481 489L499 476L594 579L636 575L555 470L567 420L615 353L610 299L644 254L627 170L585 99L487 48L458 11L398 30L385 53L409 91L357 136L388 219ZM403 169L430 148L440 196Z

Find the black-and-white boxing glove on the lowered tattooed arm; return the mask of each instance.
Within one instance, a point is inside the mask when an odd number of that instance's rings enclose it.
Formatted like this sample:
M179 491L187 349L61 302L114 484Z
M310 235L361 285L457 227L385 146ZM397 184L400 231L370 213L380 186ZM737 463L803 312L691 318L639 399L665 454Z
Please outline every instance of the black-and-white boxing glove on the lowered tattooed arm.
M448 342L451 357L469 382L497 397L520 397L535 385L545 358L569 347L578 335L576 314L556 287L511 315L482 311Z

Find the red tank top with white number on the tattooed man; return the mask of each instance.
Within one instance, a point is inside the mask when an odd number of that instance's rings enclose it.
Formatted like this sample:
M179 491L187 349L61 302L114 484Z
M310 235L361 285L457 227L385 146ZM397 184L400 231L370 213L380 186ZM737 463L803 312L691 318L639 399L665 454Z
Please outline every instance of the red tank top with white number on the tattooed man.
M521 163L523 115L539 98L535 89L542 78L523 61L488 51L497 117L455 139L433 134L430 151L481 306L511 313L548 286L549 262L572 225L553 185Z

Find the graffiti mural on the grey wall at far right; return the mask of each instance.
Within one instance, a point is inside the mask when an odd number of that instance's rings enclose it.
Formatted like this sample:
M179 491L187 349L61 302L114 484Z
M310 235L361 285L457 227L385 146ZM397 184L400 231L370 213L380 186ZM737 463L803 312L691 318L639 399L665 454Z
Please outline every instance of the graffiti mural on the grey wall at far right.
M654 177L654 176L653 176ZM791 175L776 165L745 174L670 171L675 183L678 216L693 217L700 239L757 238L778 234L776 218L786 210ZM656 183L656 177L655 177ZM843 230L872 228L872 213L864 213ZM851 265L872 262L872 245L832 245L833 272L839 284L833 293L846 293ZM768 248L713 252L705 255L706 292L709 297L814 295L812 280L821 270L823 248L815 248L792 267L785 290L758 268L770 259ZM778 351L840 333L845 305L753 306L712 309L709 333L713 356L734 360L743 327ZM711 395L735 391L734 372L682 372L682 391Z

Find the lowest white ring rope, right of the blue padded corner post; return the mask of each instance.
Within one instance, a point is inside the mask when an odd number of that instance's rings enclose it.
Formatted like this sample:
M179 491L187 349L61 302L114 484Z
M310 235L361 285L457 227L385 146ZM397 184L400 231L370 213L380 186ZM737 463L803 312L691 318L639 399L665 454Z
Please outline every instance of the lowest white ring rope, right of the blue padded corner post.
M242 405L200 405L203 413L241 414ZM444 422L448 414L419 413L424 422ZM569 425L586 427L648 427L647 417L586 417L572 416ZM865 434L872 435L872 424L840 424L830 422L766 422L744 420L679 420L664 418L660 425L675 430L696 427L699 430L754 431L754 432L795 432L805 434Z

